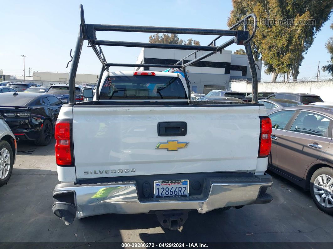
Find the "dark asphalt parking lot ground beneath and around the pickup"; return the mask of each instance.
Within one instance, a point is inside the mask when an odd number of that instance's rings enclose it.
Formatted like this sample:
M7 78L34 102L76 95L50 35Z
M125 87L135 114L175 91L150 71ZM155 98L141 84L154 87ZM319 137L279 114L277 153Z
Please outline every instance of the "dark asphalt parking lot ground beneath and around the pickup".
M333 242L333 218L317 209L309 193L270 174L271 203L193 211L180 230L162 229L149 214L101 215L66 226L51 210L58 183L54 141L45 147L19 142L12 177L0 188L0 242Z

